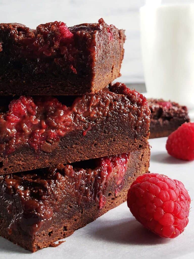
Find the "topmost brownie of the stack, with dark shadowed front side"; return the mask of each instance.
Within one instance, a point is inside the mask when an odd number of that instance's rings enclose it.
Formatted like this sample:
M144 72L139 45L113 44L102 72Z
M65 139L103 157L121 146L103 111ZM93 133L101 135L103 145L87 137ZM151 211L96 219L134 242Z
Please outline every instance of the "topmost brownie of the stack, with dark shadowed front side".
M125 35L101 18L67 27L63 22L0 24L0 95L83 95L120 76Z

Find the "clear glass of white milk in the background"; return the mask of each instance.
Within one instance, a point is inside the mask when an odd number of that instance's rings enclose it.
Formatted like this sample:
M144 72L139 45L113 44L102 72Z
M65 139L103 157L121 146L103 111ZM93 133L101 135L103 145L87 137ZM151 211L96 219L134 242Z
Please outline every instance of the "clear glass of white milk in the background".
M148 97L194 109L194 1L147 0L140 28Z

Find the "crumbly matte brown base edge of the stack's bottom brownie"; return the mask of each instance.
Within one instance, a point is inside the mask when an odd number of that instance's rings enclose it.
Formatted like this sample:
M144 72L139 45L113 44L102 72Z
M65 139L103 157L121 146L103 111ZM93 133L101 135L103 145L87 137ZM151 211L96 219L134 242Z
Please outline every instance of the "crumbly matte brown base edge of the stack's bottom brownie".
M70 220L63 219L63 221L58 224L51 224L49 229L40 229L33 237L27 235L24 237L18 229L15 229L12 234L9 235L8 230L5 228L7 225L6 219L0 217L0 235L32 252L44 247L53 246L55 241L71 235L76 229L84 227L86 224L94 221L110 209L123 203L126 200L127 191L134 179L138 175L148 171L149 160L150 149L147 146L147 148L138 152L138 161L137 157L133 158L132 162L135 162L137 167L128 167L125 174L128 174L128 179L125 179L123 189L116 197L114 193L109 193L106 197L106 204L102 209L99 209L96 203L90 208L85 208L83 210L78 209Z

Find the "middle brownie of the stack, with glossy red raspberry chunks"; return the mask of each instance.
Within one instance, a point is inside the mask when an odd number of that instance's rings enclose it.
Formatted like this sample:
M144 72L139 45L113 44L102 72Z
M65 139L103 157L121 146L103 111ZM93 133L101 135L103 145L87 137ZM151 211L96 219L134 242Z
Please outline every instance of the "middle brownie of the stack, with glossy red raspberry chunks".
M5 99L0 98L0 175L147 146L147 99L121 83L81 97Z

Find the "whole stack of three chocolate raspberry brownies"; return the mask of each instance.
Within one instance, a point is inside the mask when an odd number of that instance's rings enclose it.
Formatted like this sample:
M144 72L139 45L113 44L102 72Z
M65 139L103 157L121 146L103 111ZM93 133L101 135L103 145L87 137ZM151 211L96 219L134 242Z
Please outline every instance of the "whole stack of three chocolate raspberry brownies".
M0 235L36 251L126 200L148 171L150 109L122 83L125 35L101 18L0 24ZM107 85L109 84L109 87Z

